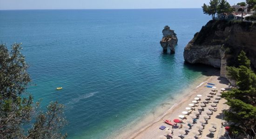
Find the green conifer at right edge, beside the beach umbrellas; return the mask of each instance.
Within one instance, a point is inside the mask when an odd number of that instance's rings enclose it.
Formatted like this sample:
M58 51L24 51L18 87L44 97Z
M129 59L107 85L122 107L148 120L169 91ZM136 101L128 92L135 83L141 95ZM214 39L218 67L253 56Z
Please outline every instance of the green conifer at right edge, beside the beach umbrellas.
M239 67L228 67L229 76L236 80L237 88L222 93L229 110L224 111L225 120L235 133L256 136L256 74L250 69L245 52L238 56ZM249 139L249 138L248 138Z

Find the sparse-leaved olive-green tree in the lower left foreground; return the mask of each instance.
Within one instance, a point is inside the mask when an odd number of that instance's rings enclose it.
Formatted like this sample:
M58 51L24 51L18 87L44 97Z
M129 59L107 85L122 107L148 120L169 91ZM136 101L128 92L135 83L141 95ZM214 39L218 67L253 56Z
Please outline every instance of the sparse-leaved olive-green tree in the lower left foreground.
M66 122L63 105L51 102L43 113L40 103L27 95L31 79L21 50L21 44L13 44L11 51L0 44L0 139L65 138L66 134L59 133Z

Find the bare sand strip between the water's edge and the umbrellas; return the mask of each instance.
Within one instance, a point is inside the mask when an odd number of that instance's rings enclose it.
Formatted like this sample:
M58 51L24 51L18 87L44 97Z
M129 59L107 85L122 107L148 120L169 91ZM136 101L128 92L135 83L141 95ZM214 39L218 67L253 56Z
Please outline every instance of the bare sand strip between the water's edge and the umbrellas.
M198 81L203 80L198 85ZM223 81L225 78L219 76L218 73L213 73L212 76L202 76L197 79L197 82L194 82L189 88L186 88L182 91L182 95L179 95L177 98L173 100L173 105L166 111L162 111L160 116L155 117L154 120L150 121L149 123L143 124L143 120L139 123L135 123L133 126L134 128L129 128L126 130L121 131L121 133L114 136L115 139L117 138L125 138L125 139L154 139L159 136L161 130L159 130L159 125L164 125L164 119L173 120L178 118L178 115L185 110L185 106L188 107L188 104L191 103L190 100L193 100L194 96L197 94L206 95L209 93L210 88L204 87L207 82L216 83L216 86L222 86L223 88L228 87L228 82ZM168 101L168 100L167 100ZM188 104L187 104L188 103ZM156 107L157 109L161 109L161 107ZM150 116L150 115L149 115ZM148 116L148 117L149 117ZM147 116L143 116L146 117ZM142 118L141 118L142 119ZM167 126L168 127L168 126ZM162 131L162 135L165 133ZM113 137L112 137L113 138Z

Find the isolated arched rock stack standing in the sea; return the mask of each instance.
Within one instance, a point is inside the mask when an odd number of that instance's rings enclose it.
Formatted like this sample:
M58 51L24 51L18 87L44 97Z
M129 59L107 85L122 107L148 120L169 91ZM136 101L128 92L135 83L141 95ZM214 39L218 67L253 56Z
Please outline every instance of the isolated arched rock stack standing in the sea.
M164 27L162 30L163 38L160 41L160 44L162 46L162 50L164 53L167 53L168 48L171 50L171 54L175 53L174 46L178 42L178 38L174 32L174 30L171 30L168 25Z

